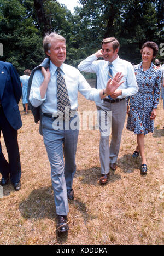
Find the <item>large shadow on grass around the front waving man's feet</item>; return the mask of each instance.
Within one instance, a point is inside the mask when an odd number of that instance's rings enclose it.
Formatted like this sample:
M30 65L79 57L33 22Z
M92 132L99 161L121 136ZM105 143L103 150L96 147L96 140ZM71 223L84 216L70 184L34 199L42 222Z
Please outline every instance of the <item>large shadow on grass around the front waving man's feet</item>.
M73 205L74 208L77 208L78 211L84 218L84 223L87 223L89 219L95 218L95 216L91 216L87 213L87 208L85 203L81 202L79 199L68 200L68 203ZM52 186L49 187L41 187L39 189L34 189L27 199L22 200L19 204L19 210L25 219L38 220L38 219L53 219L54 225L56 226L56 211L55 211L55 203L54 203L54 191ZM73 227L74 222L76 223L76 218L74 216L69 215L68 221L69 227ZM77 219L78 221L78 219ZM58 243L65 243L68 238L68 232L58 233L56 232L56 239Z

